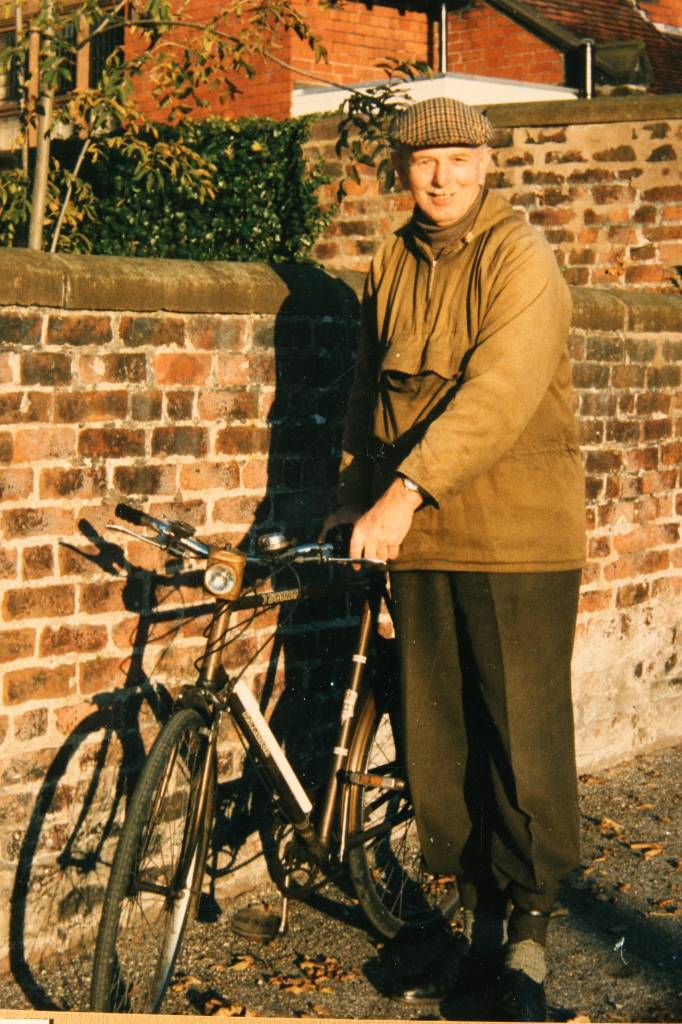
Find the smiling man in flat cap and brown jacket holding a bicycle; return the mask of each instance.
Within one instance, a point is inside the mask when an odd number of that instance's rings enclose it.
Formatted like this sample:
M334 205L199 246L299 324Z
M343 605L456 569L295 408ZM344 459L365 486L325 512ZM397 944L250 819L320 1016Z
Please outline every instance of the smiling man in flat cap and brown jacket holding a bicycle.
M506 927L498 1018L545 1020L549 912L579 857L583 468L568 289L546 242L485 190L492 137L442 97L395 119L415 211L369 272L327 525L354 523L351 555L390 561L427 863L457 873L472 953ZM395 994L443 998L456 967L441 956Z

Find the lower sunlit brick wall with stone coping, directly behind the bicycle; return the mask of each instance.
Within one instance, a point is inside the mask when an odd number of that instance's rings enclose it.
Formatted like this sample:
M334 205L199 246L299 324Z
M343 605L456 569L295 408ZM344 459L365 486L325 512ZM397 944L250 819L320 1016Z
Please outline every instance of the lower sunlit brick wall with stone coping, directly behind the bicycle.
M120 820L205 626L189 615L201 601L190 581L105 524L124 500L207 538L238 542L280 522L314 536L360 283L313 267L0 252L0 929L15 972L36 983L41 942L67 945L92 921L111 858L102 822ZM682 738L682 325L670 296L574 298L587 768ZM257 625L235 657L257 652L272 624ZM310 723L331 717L330 674L349 631L335 610L304 649L301 626L290 623L250 677L314 777ZM229 732L221 771L231 839L214 884L246 886L250 869L233 868L259 865L258 836Z

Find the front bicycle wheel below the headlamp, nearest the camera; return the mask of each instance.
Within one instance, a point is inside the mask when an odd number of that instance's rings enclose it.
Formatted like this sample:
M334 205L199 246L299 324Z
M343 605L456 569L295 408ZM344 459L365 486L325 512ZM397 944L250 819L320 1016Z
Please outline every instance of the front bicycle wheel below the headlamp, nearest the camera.
M204 720L193 709L179 711L150 752L121 831L97 933L91 1010L161 1007L201 894L214 795Z

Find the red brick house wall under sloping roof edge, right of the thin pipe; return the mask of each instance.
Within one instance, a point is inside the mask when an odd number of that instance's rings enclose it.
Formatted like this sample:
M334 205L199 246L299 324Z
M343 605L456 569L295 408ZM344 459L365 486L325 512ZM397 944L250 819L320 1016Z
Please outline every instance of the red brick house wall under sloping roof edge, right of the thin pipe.
M564 84L562 53L483 0L451 11L447 70L464 75Z

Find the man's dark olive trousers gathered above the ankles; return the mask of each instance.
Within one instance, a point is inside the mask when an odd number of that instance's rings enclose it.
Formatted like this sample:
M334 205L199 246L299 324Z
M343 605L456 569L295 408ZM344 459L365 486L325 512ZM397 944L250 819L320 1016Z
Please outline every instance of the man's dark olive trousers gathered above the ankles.
M547 913L579 861L570 698L580 570L391 573L422 849L487 902Z

